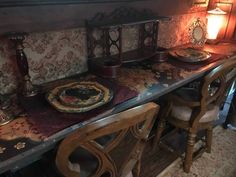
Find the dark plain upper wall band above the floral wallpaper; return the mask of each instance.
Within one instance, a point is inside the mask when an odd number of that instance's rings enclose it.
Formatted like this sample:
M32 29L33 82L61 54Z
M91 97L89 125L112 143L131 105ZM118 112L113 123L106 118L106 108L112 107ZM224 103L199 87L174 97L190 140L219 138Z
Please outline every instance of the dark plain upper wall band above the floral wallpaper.
M63 4L57 3L57 5L43 5L46 1L53 0L41 1L40 5L35 4L40 0L31 0L34 5L31 3L31 5L22 6L29 1L0 1L0 36L11 31L33 33L85 27L85 20L91 19L95 14L99 12L109 14L122 6L137 10L150 9L158 16L206 11L205 7L201 7L192 12L189 10L189 3L182 0L176 0L175 4L173 4L173 0L64 0L65 2L54 0L55 2L63 2ZM77 4L72 4L76 1ZM91 3L82 3L82 1ZM13 6L13 2L18 2L20 6L16 6L17 4Z

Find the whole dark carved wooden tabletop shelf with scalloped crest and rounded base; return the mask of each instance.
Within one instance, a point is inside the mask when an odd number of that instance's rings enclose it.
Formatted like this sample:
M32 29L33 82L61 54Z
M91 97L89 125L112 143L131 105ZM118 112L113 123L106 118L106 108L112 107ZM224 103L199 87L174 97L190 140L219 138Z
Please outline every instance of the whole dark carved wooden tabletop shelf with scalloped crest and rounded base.
M122 63L154 56L157 49L158 22L161 19L168 18L158 17L150 10L120 7L110 14L98 13L91 20L87 20L87 49L91 71L103 77L114 78ZM128 25L137 25L139 29L138 49L123 52L122 29ZM100 31L100 35L95 37L96 31ZM116 33L115 38L112 32ZM98 47L102 50L100 57L96 56L95 49Z

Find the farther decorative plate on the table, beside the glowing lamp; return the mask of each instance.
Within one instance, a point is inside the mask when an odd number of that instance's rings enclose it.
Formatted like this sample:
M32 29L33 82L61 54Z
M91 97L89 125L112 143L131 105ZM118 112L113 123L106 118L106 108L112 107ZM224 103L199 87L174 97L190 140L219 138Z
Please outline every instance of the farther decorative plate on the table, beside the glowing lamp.
M180 48L171 50L170 55L184 62L200 62L211 57L211 54L206 51L193 48Z

